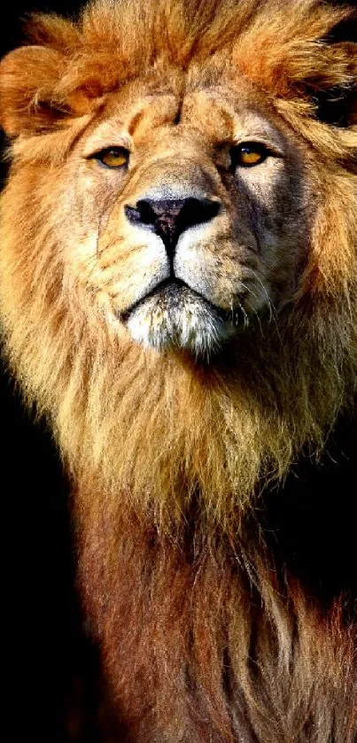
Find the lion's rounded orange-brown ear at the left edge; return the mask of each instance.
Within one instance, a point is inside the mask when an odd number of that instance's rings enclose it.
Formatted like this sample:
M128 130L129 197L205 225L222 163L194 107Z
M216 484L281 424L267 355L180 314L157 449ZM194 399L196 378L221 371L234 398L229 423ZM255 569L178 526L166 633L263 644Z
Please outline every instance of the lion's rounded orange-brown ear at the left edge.
M58 50L24 46L0 63L0 125L9 136L52 128L68 114L65 100L56 96L64 70Z

